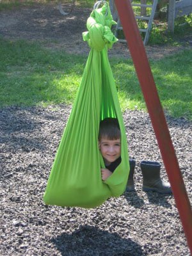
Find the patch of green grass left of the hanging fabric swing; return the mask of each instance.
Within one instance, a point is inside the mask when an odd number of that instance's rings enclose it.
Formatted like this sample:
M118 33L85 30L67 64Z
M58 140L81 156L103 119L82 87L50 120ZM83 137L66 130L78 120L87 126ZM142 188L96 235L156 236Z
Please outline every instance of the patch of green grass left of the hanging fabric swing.
M71 103L83 72L83 60L39 44L1 40L0 104Z

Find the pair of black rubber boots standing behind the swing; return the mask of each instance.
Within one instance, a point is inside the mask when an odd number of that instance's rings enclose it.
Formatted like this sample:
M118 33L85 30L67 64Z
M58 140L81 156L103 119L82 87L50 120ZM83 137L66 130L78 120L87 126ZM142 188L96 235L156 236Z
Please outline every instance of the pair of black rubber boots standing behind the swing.
M127 191L134 191L134 168L136 162L133 159L129 160L130 172L127 181ZM141 161L141 173L143 175L142 190L156 191L162 194L172 193L169 182L164 182L160 177L161 164L153 161Z

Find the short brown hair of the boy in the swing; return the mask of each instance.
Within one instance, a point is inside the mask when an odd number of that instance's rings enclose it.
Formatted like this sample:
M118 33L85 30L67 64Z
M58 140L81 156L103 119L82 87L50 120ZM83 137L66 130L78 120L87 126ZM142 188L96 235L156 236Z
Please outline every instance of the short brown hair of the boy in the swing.
M121 138L120 126L117 118L105 118L100 121L99 140L108 138L108 140L117 140Z

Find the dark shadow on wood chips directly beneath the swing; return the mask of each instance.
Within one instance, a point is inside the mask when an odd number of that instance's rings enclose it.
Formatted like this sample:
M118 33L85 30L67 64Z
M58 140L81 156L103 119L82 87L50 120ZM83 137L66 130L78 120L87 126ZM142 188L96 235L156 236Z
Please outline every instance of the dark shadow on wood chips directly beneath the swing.
M88 225L79 227L72 234L63 233L51 240L61 255L146 255L140 244L123 239L116 233L109 233Z

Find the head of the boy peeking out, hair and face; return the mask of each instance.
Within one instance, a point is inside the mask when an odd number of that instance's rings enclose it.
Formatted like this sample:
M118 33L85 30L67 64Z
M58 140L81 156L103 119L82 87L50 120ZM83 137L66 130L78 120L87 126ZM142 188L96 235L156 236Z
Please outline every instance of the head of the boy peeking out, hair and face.
M99 149L106 165L121 155L121 132L116 118L105 118L100 122Z

